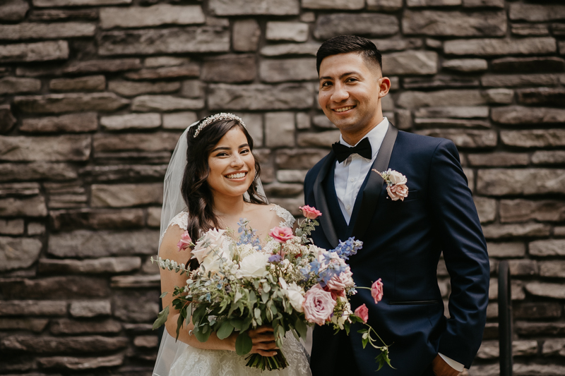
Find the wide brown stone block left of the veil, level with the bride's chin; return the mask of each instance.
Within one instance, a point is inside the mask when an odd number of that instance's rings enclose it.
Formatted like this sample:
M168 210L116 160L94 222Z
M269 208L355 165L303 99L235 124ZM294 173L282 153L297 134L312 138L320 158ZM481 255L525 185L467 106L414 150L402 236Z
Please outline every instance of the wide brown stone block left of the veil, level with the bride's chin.
M162 183L145 184L93 184L93 207L129 207L162 204Z

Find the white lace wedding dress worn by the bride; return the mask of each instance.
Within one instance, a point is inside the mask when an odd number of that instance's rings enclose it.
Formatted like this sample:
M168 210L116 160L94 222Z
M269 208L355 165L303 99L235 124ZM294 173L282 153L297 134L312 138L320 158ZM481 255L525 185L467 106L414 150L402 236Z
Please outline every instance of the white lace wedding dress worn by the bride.
M280 226L292 227L295 218L287 210L278 205L273 207L278 217ZM181 229L186 230L188 226L188 213L181 212L174 217L169 226L176 224ZM165 233L163 233L165 235ZM269 248L269 244L266 245ZM247 367L245 356L238 356L234 351L227 350L203 350L186 346L182 353L171 365L169 376L302 376L311 375L308 354L304 346L287 333L281 348L287 358L288 366L283 370L263 371L257 368ZM154 373L155 375L155 373Z

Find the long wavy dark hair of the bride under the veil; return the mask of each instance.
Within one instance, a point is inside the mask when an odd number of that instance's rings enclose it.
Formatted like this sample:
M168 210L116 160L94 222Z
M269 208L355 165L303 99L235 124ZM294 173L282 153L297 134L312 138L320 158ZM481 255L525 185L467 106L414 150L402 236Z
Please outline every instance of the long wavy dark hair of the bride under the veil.
M186 133L189 152L186 153L186 169L184 169L182 177L181 193L189 212L189 223L186 230L189 231L190 237L195 242L200 237L201 231L206 232L214 227L220 229L220 222L213 210L214 196L206 181L210 174L208 155L213 150L213 147L220 142L221 138L234 127L241 129L247 138L249 149L253 152L253 138L237 120L224 119L213 121L202 128L196 138L194 133L198 125L193 126ZM244 200L254 204L265 205L266 202L261 199L261 195L257 191L257 181L260 172L261 167L257 158L255 158L255 178L247 189L247 195L244 195ZM194 265L191 265L191 267L194 267Z

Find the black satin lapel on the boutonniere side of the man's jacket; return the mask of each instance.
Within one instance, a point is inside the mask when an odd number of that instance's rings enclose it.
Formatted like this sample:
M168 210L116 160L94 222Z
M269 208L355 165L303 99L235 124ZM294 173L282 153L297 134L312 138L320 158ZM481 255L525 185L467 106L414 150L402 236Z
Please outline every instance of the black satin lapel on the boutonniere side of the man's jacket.
M385 171L388 169L388 162L391 161L396 135L398 135L398 129L392 124L389 124L388 131L386 131L383 143L379 149L379 154L376 155L375 162L373 166L371 166L371 169L376 169L376 171ZM369 223L376 212L376 205L379 202L383 184L383 178L381 178L379 174L376 174L374 171L369 171L369 180L363 190L363 200L357 219L355 219L355 226L353 227L352 236L355 236L357 239L363 236L367 228L369 228Z

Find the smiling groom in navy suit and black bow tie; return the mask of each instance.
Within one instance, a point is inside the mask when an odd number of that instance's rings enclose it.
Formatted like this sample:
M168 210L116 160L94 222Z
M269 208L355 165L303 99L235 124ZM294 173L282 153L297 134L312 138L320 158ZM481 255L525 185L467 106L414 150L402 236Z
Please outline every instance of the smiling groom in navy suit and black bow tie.
M390 347L391 364L375 374L380 351L362 348L360 325L350 335L316 327L314 376L456 376L481 344L489 289L489 259L467 178L449 140L398 131L383 118L381 99L391 81L381 54L362 37L342 35L317 54L319 104L340 130L340 141L304 181L307 205L321 210L312 234L333 249L350 236L363 248L350 257L357 286L381 278L383 300L370 291L352 296L369 308L369 325ZM353 147L355 146L355 147ZM392 200L371 169L408 178L408 197ZM450 318L437 284L441 252L451 276Z

